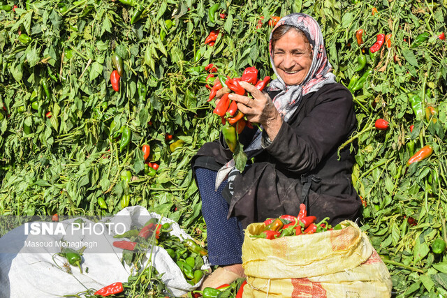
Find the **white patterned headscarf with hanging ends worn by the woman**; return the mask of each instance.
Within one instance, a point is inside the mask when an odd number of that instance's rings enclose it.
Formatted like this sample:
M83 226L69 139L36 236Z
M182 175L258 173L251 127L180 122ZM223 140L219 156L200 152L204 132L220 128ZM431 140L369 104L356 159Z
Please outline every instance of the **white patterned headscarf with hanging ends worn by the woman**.
M277 69L274 67L272 57L272 34L276 29L283 25L290 25L300 29L305 33L305 36L312 47L312 65L309 68L309 73L307 73L305 80L299 85L286 85L284 80L278 75ZM291 13L290 15L282 17L272 30L272 33L270 33L269 53L270 64L272 65L274 73L277 75L277 79L270 82L268 91L280 91L272 101L279 114L286 122L291 118L295 110L298 108L298 105L300 105L303 96L318 91L318 89L325 84L335 83L335 75L331 73L332 66L328 61L328 56L326 55L324 47L323 34L321 33L320 26L316 20L310 15L306 15L305 13ZM251 143L244 149L248 158L252 158L263 151L261 137L262 133L261 131L258 131L254 135ZM216 188L221 184L221 181L227 177L227 174L234 169L234 165L234 160L231 160L219 170L216 180Z

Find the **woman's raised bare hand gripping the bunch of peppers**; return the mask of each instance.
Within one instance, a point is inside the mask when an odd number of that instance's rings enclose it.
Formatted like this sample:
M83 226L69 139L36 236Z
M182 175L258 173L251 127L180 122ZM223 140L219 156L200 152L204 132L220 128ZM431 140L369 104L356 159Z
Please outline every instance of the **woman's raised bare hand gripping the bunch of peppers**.
M253 98L237 94L230 94L231 100L237 101L237 108L247 116L247 120L263 126L265 132L273 140L282 125L282 118L272 100L252 84L239 82L242 88L248 91Z

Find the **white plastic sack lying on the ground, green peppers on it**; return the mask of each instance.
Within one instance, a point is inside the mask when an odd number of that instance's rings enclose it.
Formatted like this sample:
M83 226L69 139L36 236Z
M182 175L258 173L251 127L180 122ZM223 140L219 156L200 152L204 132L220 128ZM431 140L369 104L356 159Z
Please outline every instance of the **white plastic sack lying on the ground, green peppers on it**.
M151 217L160 218L159 214L149 213L143 207L127 207L115 216L102 218L100 223L96 223L96 228L102 226L105 228L105 232L99 236L73 229L71 223L76 218L61 221L67 231L65 236L60 234L43 235L42 233L32 235L29 225L21 225L11 230L0 238L0 297L61 297L84 292L87 289L99 290L105 285L118 281L127 282L128 277L135 272L133 272L133 268L122 265L122 249L112 246L113 241L122 239L113 238L115 233L110 233L107 227L119 223L121 226L125 225L126 230L130 230L132 225L142 227ZM95 224L85 218L82 218L82 221L85 224ZM170 234L181 239L191 238L169 218L163 218L161 223L172 223L173 231ZM28 231L28 235L25 234L26 231ZM117 234L122 232L124 231ZM100 241L101 250L94 247L85 249L81 264L83 274L80 273L79 268L73 266L71 266L73 274L68 274L62 266L64 258L59 255L54 257L54 261L62 268L54 264L53 256L56 249L54 246L60 244L62 238L70 244L94 244L94 241ZM52 243L53 246L29 247L29 245L38 243L43 245ZM58 249L60 251L60 248ZM108 253L104 253L105 250ZM150 257L150 253L151 248L147 251L147 258ZM202 269L209 269L210 264L206 257L204 257L204 262L205 265ZM164 273L161 280L170 291L169 294L175 297L196 289L202 282L200 281L194 286L187 283L179 267L159 246L154 246L152 249L152 263L160 274ZM147 260L144 265L147 265ZM145 267L144 265L143 267ZM86 272L87 267L88 273Z

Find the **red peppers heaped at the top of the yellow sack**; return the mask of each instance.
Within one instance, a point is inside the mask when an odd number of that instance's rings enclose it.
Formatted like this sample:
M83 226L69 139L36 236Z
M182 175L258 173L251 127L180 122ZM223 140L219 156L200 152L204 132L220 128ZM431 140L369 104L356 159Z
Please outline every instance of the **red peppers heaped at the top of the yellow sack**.
M328 230L342 230L342 225L338 224L332 228L328 224L328 217L323 221L315 223L316 216L307 216L306 205L300 204L298 216L281 215L279 218L268 218L264 221L265 228L260 234L251 237L277 239L286 236L296 236L300 234L314 234Z

